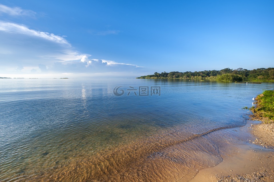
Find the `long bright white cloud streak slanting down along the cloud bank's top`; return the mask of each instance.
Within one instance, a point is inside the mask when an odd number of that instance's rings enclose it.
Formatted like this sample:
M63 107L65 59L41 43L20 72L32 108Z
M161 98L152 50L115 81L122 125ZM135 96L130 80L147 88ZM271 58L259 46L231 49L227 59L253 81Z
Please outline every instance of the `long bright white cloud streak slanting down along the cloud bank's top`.
M53 41L56 43L66 44L70 46L70 43L58 35L54 35L53 33L41 32L29 29L25 25L19 25L16 23L10 22L3 22L0 21L0 31L8 32L8 33L16 33L16 34L23 34L28 36L40 37L49 41Z

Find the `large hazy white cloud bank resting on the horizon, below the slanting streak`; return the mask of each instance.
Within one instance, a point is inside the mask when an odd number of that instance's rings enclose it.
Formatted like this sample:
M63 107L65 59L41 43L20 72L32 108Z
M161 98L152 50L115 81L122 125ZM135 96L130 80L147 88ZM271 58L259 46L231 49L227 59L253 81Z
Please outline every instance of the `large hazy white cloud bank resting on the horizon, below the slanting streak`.
M106 76L104 73L112 73L115 77L142 75L136 73L141 71L141 66L136 64L91 59L90 54L82 54L68 44L40 39L37 36L30 37L25 34L11 34L7 31L0 31L0 40L0 50L5 48L4 53L12 52L12 54L1 54L0 52L1 74L18 75L9 77L66 77L61 76L63 73L71 73L70 76L67 76L70 78L89 77L88 75L101 78ZM136 75L133 76L132 72ZM49 75L45 76L46 73ZM116 73L120 73L120 76ZM31 74L34 75L29 76ZM59 74L60 76L56 76ZM5 75L2 77L5 77Z

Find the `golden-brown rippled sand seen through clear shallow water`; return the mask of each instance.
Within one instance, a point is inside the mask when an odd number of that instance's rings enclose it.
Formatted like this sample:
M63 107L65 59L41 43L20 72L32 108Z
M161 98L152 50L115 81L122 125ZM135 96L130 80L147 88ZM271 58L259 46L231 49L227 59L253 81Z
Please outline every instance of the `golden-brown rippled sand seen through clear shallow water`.
M195 135L176 128L104 151L74 154L17 177L23 181L189 181L200 169L219 164L225 155L220 146L225 149L234 140L233 128Z

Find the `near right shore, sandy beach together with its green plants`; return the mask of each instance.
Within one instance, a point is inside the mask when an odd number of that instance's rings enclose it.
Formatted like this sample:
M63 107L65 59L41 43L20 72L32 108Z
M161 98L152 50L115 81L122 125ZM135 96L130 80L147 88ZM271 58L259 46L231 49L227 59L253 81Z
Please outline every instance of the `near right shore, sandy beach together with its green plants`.
M274 123L273 90L265 90L255 100L249 122L243 127L248 133L244 143L234 145L234 155L212 168L202 169L190 180L194 181L274 181ZM252 124L252 121L256 124ZM232 153L232 149L230 149Z

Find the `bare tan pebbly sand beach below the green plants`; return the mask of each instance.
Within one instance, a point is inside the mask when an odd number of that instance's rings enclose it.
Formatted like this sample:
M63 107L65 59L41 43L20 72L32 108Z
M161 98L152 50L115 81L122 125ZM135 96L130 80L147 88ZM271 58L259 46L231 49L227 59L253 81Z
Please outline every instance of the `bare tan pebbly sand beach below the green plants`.
M274 124L244 127L252 136L235 143L233 153L223 156L217 166L202 169L190 182L206 181L274 181Z

